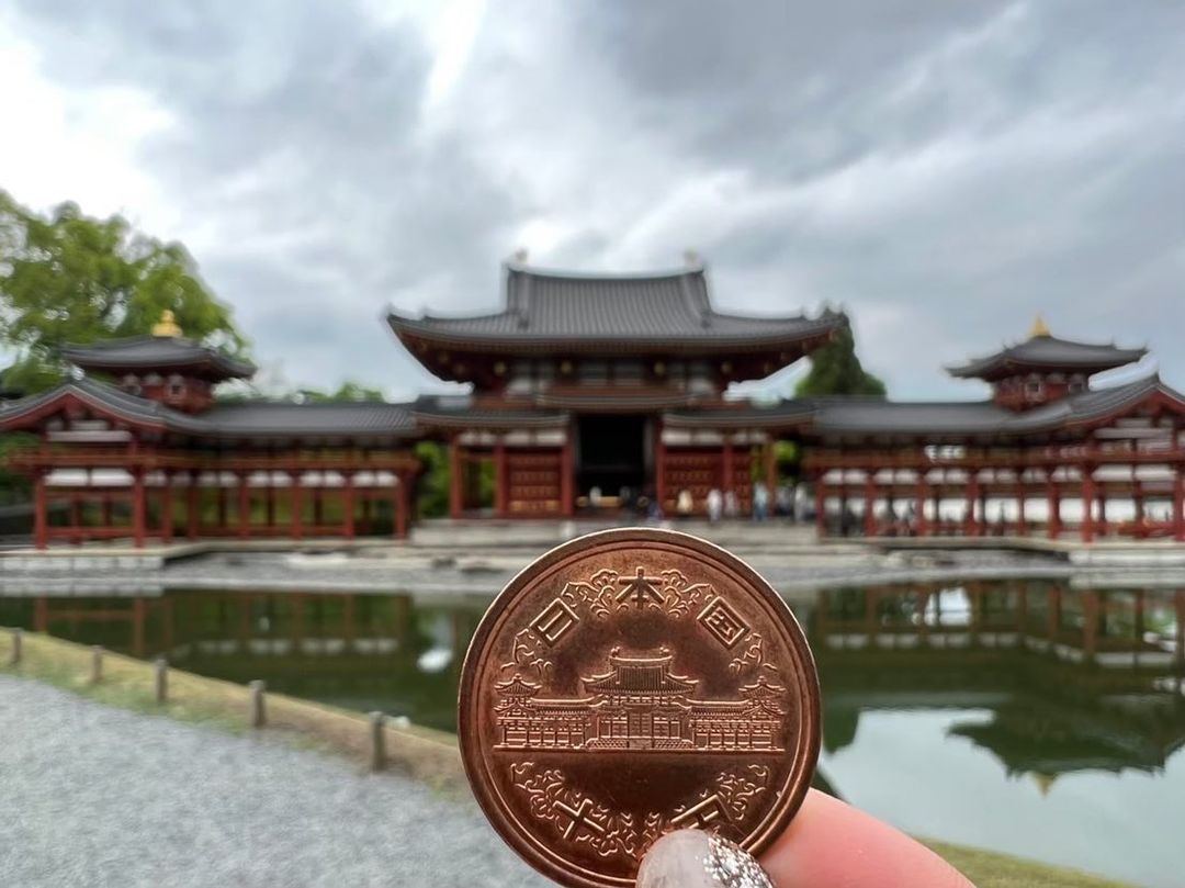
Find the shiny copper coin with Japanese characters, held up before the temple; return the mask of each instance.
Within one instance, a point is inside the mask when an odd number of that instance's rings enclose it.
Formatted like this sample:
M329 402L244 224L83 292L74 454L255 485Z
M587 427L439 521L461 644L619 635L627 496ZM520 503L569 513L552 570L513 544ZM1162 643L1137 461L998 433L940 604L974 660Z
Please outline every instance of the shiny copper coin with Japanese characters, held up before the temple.
M568 886L632 886L684 826L754 854L819 753L819 679L786 602L667 530L565 543L502 589L461 675L469 784L501 837Z

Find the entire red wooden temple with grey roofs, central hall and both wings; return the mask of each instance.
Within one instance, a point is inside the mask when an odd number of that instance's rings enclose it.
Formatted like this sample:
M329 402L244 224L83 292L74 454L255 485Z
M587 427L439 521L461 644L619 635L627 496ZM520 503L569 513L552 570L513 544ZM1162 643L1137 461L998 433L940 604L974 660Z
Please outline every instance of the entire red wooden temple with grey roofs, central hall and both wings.
M34 479L37 545L403 536L424 440L448 448L454 518L648 502L672 516L680 500L702 515L712 488L748 513L756 485L781 481L775 445L794 441L821 535L1185 539L1185 398L1155 376L1089 384L1144 350L1038 324L1025 341L950 369L988 383L988 400L757 404L725 391L827 343L843 314L718 312L699 264L582 275L510 263L504 282L493 314L389 314L429 371L470 384L461 396L219 402L213 386L254 368L171 319L152 336L66 349L79 378L0 402L0 432L37 436L9 460ZM1125 515L1109 519L1115 500Z

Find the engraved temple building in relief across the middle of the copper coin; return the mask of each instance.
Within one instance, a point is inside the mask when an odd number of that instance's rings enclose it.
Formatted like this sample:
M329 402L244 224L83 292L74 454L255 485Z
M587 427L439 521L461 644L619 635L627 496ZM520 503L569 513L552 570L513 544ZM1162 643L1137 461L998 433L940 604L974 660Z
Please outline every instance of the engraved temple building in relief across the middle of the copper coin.
M697 699L698 679L671 671L668 650L626 656L582 678L584 696L542 697L515 675L495 685L499 749L782 752L784 689L764 676L736 699Z

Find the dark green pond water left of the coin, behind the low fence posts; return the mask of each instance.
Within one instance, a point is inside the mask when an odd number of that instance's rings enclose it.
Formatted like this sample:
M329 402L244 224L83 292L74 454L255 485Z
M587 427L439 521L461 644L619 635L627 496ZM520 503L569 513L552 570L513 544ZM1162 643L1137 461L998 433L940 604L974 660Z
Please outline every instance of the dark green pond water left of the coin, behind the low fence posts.
M184 590L0 598L0 626L451 730L456 678L487 600L409 595Z

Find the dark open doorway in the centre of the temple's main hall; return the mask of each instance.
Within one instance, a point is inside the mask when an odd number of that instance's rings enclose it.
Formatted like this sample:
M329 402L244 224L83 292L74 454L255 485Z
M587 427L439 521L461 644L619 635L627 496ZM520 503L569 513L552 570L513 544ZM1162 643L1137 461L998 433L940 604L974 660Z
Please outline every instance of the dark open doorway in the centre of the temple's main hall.
M648 480L647 417L621 414L579 416L576 421L576 485L590 507L624 506L645 492ZM600 502L590 494L600 491Z

